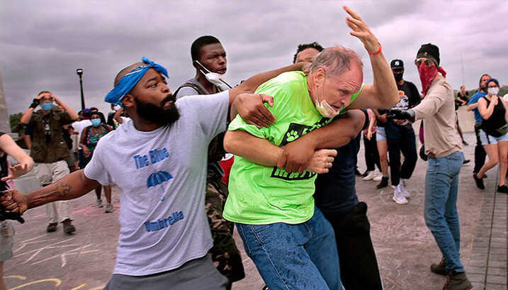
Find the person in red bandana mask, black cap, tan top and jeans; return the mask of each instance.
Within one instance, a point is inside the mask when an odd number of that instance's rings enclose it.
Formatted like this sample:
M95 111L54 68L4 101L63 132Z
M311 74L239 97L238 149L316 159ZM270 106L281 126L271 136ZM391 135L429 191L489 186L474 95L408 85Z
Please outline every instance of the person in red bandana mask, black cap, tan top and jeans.
M417 52L414 64L422 82L422 102L407 111L390 109L389 118L423 120L425 153L429 155L425 177L424 217L443 254L431 271L446 274L445 290L473 289L459 254L461 230L458 223L458 174L464 155L457 137L453 88L439 67L439 48L427 43Z

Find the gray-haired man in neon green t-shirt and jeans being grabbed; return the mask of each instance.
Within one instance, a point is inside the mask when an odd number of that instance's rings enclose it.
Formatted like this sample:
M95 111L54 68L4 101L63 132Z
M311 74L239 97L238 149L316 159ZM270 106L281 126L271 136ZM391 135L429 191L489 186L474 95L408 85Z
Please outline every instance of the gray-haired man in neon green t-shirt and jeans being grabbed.
M308 76L284 73L256 90L273 96L273 126L258 128L235 118L225 135L225 149L237 157L224 217L237 223L247 255L271 290L342 289L334 230L312 199L317 174L327 172L337 154L323 148L346 145L365 123L362 111L345 113L346 107L397 103L381 45L360 16L345 9L351 35L370 55L374 84L363 84L354 51L327 48L315 57ZM304 135L308 142L292 144ZM320 169L323 163L327 168Z

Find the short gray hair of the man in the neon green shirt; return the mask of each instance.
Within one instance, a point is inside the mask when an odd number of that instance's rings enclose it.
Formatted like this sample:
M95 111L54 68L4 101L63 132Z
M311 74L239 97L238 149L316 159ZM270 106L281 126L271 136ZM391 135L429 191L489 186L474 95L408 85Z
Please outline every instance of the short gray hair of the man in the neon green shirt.
M310 73L314 73L317 69L322 68L327 72L327 77L337 77L342 74L346 69L351 69L351 63L358 62L361 67L363 63L359 55L349 48L343 46L332 46L320 52L310 65Z

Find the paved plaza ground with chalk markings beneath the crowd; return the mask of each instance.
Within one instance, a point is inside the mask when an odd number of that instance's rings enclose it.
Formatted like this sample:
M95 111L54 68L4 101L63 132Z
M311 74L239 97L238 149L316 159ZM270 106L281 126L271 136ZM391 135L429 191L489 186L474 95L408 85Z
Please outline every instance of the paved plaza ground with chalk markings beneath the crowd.
M472 177L475 136L466 133L464 147L471 159L461 171L458 211L461 218L461 257L475 290L507 289L507 195L495 192L497 167L487 172L486 189L476 188ZM365 168L363 151L359 168ZM406 187L410 203L392 201L393 189L376 189L377 182L356 178L359 199L368 204L371 235L385 289L441 289L445 277L432 274L429 266L441 254L424 223L424 177L426 162L418 160ZM46 233L45 208L35 208L15 222L14 257L4 263L8 289L98 290L111 277L119 235L120 192L113 186L113 213L96 208L93 192L72 201L74 235L62 225ZM203 206L204 210L204 206ZM242 249L247 277L233 284L234 290L261 290L264 285L256 267Z

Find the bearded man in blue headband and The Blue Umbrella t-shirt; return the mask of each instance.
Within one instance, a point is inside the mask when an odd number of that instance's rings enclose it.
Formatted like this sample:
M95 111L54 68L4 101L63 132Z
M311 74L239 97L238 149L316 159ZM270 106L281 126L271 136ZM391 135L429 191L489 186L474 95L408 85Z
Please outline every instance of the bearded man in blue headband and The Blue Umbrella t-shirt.
M234 89L175 102L166 69L143 57L120 71L106 96L125 108L130 121L101 138L86 168L27 195L6 191L1 205L23 213L115 183L122 192L121 230L105 289L225 289L227 279L207 255L212 246L203 211L208 143L226 130L234 100L242 118L247 113L245 118L268 123L263 116L271 113L262 102L269 98L242 93L301 67L256 74Z

